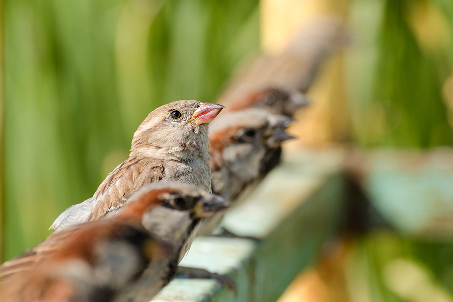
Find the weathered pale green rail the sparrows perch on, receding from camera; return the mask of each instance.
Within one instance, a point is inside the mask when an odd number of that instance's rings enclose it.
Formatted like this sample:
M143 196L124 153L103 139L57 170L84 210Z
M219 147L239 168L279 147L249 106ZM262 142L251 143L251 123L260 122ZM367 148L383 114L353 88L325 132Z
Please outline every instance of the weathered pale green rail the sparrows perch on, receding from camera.
M284 164L226 215L226 230L259 241L195 240L181 264L231 276L237 294L215 280L175 279L153 300L277 300L338 230L345 196L341 154L331 150L285 156Z

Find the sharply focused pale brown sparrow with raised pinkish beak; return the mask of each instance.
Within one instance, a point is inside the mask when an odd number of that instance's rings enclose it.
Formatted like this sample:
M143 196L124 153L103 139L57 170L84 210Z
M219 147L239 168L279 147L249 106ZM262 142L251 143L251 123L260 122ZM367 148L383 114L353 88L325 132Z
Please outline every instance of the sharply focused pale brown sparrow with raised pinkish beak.
M184 100L149 113L133 135L128 159L107 175L93 197L66 209L50 229L59 232L111 216L134 191L155 181L182 181L210 191L208 124L223 108Z

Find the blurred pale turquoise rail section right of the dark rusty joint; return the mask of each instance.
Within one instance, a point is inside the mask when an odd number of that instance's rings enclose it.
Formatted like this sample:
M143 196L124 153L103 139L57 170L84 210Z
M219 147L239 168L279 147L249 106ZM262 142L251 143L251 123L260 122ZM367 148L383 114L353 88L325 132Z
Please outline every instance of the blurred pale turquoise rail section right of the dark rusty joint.
M355 170L370 202L397 231L453 238L451 150L369 152Z

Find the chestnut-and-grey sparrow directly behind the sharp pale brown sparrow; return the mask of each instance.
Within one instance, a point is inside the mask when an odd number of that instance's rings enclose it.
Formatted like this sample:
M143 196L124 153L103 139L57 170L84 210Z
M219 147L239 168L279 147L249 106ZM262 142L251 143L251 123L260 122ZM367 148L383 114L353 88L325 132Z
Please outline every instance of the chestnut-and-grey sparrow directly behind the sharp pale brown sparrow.
M293 136L285 132L292 118L249 108L219 116L212 122L212 192L233 206L243 201L280 162L281 144ZM209 235L223 213L202 220L198 235Z

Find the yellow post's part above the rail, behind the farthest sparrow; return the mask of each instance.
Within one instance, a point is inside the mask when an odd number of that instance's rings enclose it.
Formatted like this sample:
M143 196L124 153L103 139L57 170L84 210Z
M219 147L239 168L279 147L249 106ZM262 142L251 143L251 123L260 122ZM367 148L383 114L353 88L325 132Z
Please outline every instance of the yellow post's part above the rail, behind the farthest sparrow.
M316 18L335 15L345 18L349 0L261 0L261 46L264 52L277 53L291 38ZM300 112L291 131L299 143L321 146L342 142L349 137L349 115L341 56L324 64L309 90L312 106ZM293 144L295 144L294 142Z

